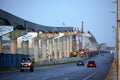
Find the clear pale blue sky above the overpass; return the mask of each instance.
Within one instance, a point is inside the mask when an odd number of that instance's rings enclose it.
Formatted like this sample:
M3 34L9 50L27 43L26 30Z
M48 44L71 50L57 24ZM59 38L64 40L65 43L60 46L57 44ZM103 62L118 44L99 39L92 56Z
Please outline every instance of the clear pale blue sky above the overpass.
M90 31L98 43L115 46L115 0L0 0L0 9L25 20Z

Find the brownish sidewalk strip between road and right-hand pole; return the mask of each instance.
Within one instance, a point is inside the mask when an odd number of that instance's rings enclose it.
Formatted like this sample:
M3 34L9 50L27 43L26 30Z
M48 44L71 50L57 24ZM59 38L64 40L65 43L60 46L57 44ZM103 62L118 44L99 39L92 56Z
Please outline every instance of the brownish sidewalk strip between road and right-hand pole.
M109 71L107 77L105 78L105 80L117 80L117 63L116 63L116 59L112 63L110 71Z

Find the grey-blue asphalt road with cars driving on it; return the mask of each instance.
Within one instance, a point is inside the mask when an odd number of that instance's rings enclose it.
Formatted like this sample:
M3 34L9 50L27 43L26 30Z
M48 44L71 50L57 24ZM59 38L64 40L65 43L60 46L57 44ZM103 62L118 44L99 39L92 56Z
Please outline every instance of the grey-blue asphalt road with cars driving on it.
M0 72L0 80L104 80L109 72L113 54L96 55L84 60L85 66L76 63L35 68L34 72ZM96 68L87 68L88 60L95 60Z

